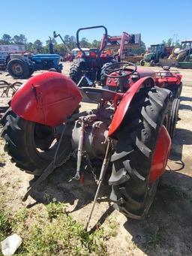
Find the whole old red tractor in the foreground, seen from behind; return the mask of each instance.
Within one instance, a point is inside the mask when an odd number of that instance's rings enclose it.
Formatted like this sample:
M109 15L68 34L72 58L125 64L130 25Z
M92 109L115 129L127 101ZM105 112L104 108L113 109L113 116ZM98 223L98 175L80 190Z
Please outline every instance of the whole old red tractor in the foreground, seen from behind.
M110 175L115 208L139 219L151 206L169 157L172 93L157 86L153 71L115 65L104 69L108 89L79 88L56 72L31 77L13 95L1 136L17 167L35 176L45 177L45 168L61 166L77 152L74 179L81 179L82 161L100 158L100 181ZM80 112L84 100L95 108Z

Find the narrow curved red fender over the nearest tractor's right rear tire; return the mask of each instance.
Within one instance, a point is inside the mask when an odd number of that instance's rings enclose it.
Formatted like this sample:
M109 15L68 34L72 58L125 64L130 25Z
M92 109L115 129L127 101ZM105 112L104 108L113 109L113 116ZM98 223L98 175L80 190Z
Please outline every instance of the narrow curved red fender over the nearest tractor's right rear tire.
M139 79L136 83L133 83L133 86L131 86L130 89L127 90L127 92L121 99L117 110L115 111L115 115L113 116L108 136L114 137L115 131L118 130L121 122L123 122L124 116L127 113L127 109L130 106L130 102L132 101L136 92L138 92L138 90L142 86L154 86L154 80L151 77L143 77Z

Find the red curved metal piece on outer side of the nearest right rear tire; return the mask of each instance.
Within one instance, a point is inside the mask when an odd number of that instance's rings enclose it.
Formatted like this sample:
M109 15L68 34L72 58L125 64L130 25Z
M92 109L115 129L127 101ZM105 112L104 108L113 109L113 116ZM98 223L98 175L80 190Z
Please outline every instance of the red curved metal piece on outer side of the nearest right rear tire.
M149 183L155 182L165 172L166 163L171 149L171 139L169 133L164 126L160 128L160 133L157 138L156 147L151 163L151 171Z

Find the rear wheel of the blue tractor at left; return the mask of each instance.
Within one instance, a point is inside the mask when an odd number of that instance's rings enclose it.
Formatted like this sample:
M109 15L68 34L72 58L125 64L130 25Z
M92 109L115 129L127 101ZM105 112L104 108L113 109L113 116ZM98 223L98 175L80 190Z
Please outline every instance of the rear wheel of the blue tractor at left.
M28 63L22 59L10 59L7 64L7 71L13 78L26 79L30 77Z

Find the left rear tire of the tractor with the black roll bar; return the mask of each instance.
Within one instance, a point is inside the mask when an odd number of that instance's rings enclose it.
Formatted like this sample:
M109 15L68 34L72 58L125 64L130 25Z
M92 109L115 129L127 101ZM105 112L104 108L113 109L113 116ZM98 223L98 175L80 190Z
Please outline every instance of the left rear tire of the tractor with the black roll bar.
M83 77L83 71L86 71L86 62L84 59L75 60L70 68L69 76L78 84L81 77Z

